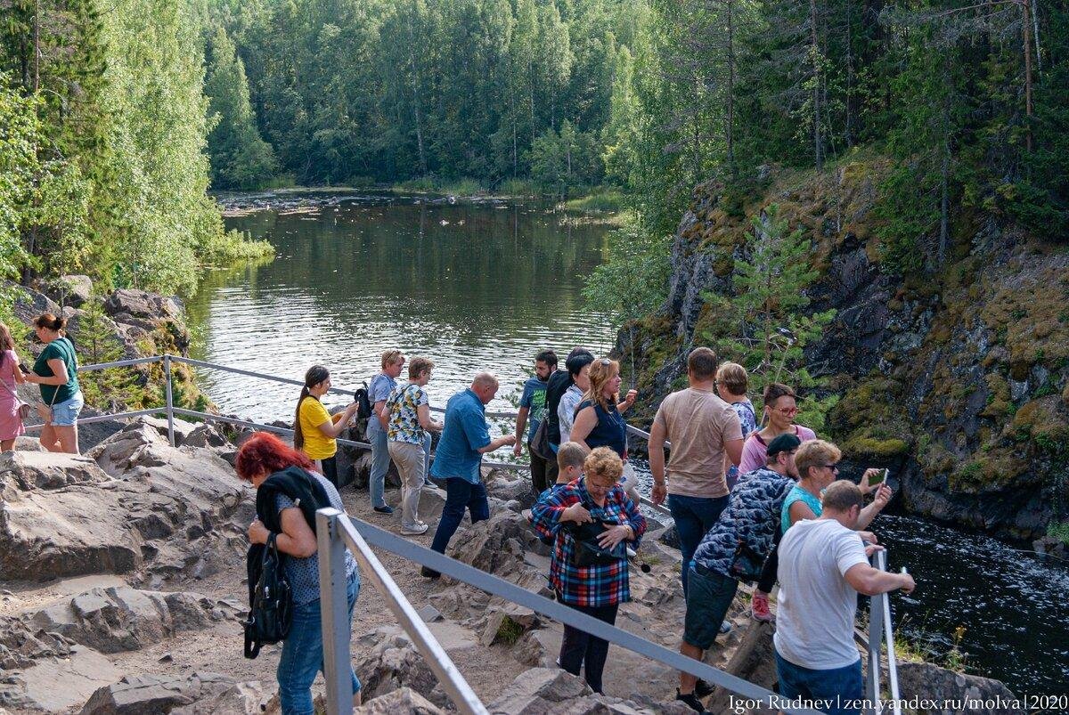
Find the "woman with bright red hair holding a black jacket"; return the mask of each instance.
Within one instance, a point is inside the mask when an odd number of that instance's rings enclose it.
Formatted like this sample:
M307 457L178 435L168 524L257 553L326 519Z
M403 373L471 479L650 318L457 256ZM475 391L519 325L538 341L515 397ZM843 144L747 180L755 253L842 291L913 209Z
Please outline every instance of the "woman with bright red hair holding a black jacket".
M313 519L315 509L321 507L344 511L341 496L323 475L312 470L306 454L267 432L257 432L242 445L234 468L239 479L250 482L259 492L257 520L249 526L249 541L266 544L274 538L278 550L285 555L285 577L293 593L293 620L278 662L282 713L312 715L312 681L323 670L320 559ZM316 506L312 507L310 501ZM360 575L348 550L345 551L345 577L352 620L353 606L360 592ZM360 704L360 681L352 664L350 673L355 706Z

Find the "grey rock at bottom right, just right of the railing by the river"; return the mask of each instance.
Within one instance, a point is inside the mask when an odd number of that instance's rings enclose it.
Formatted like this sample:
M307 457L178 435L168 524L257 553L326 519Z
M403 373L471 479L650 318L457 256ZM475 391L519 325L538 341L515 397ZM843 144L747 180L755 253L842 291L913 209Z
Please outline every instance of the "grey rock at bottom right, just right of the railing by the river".
M924 715L1017 715L1021 709L1009 706L1019 702L1002 681L979 675L966 675L930 663L899 663L898 691L904 700L919 698L932 702L960 704L964 708L933 708ZM1001 700L1001 703L1000 703ZM990 708L986 705L1002 704Z

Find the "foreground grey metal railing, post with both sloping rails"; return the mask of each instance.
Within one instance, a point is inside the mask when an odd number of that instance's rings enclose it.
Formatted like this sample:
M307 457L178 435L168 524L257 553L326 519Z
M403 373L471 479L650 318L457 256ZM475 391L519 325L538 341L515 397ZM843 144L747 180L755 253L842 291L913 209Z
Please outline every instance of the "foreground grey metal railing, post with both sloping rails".
M352 700L352 694L348 693L351 682L347 670L350 636L345 620L348 618L345 608L344 582L344 548L346 546L353 550L360 564L366 568L369 577L375 581L376 588L386 599L390 609L398 616L402 627L413 638L413 642L427 658L428 665L438 677L453 704L462 713L481 714L486 711L471 688L456 672L453 663L431 636L412 604L397 588L382 563L374 558L371 546L385 549L416 565L428 566L492 595L530 608L546 618L580 628L592 636L603 638L669 668L702 678L743 698L760 702L764 706L778 708L792 715L803 713L816 715L817 713L815 710L805 708L785 706L785 700L775 693L742 678L700 660L688 658L645 638L639 638L628 631L599 621L556 601L531 593L511 581L433 551L425 546L399 539L397 534L360 519L348 517L337 509L321 509L316 512L315 518L320 547L320 603L323 613L323 633L335 634L329 641L326 638L323 641L325 651L330 650L329 653L324 652L323 658L324 675L327 681L327 708L330 715L350 712L344 703Z

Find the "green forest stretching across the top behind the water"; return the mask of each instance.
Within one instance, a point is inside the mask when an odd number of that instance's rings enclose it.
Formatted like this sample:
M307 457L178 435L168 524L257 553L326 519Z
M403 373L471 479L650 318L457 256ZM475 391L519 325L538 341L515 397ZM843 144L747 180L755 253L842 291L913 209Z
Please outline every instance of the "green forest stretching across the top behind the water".
M956 212L1064 239L1069 10L1033 0L0 0L0 270L189 291L264 252L207 195L619 191L630 261L692 188L869 152L885 259ZM932 238L918 249L921 237ZM646 248L642 248L646 247ZM634 265L634 263L632 264Z

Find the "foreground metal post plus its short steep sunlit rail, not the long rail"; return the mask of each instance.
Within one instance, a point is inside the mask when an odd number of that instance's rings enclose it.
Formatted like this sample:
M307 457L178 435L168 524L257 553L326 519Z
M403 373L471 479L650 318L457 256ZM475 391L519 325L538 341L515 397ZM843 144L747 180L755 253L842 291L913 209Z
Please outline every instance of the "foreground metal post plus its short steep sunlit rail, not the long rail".
M353 694L348 678L351 625L345 592L347 546L359 562L361 573L374 584L456 710L464 715L489 715L479 696L464 680L464 675L345 514L337 509L321 509L315 513L315 527L320 554L320 613L323 633L330 634L323 639L327 712L337 715L352 710Z

